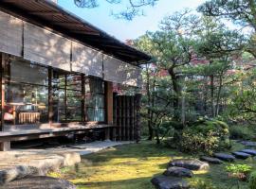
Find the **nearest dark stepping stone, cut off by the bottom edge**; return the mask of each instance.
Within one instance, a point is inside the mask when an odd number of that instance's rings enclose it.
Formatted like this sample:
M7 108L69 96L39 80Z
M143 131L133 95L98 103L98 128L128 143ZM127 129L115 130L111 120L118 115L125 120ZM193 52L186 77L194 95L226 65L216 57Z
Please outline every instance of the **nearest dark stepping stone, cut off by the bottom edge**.
M151 180L157 189L188 189L190 184L186 180L168 176L156 176Z

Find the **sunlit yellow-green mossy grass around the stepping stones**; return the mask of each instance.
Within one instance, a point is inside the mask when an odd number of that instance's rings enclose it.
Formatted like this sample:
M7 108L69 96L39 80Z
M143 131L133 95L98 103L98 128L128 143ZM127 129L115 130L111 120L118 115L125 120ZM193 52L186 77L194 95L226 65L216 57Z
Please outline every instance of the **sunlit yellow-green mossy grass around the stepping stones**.
M242 148L242 145L234 144L231 150ZM82 156L82 163L51 173L50 176L70 180L79 189L153 189L150 182L152 177L161 174L171 160L180 158L192 156L143 141L141 144L111 147ZM255 162L252 158L236 161L252 165L253 170L256 170ZM210 165L209 171L194 171L194 177L190 179L193 188L236 189L238 185L239 189L248 188L247 182L229 178L225 170L227 164Z

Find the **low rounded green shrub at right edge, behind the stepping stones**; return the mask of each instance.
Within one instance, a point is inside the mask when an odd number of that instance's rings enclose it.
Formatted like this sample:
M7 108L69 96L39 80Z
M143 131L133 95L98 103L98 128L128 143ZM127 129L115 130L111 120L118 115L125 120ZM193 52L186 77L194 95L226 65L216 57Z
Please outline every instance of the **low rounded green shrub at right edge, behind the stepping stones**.
M255 130L247 126L231 126L229 129L231 139L250 140L254 137Z

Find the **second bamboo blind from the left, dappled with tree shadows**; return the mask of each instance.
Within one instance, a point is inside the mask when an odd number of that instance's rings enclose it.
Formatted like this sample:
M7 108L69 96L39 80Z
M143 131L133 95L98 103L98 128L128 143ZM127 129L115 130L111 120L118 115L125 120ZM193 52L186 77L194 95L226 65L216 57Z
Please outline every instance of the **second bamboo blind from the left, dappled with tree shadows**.
M24 58L71 71L71 41L44 28L24 24Z

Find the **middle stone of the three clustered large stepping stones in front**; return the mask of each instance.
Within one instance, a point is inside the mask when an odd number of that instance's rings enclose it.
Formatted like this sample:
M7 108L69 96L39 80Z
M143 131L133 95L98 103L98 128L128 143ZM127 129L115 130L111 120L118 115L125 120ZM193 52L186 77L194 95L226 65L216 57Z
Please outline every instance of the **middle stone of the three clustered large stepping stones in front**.
M177 166L170 166L164 173L165 176L173 176L173 177L187 177L192 178L193 174L190 169L183 168L183 167L177 167Z

